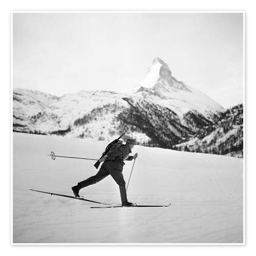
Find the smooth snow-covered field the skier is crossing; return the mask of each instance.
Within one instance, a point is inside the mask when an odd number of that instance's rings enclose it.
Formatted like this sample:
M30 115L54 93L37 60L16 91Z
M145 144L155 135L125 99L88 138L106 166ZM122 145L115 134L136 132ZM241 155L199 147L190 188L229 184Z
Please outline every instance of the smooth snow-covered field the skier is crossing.
M135 146L128 199L172 202L166 208L91 209L96 204L29 190L72 195L71 186L96 173L94 161L47 155L98 158L106 144L13 133L14 243L243 243L242 159ZM111 177L81 194L120 204Z

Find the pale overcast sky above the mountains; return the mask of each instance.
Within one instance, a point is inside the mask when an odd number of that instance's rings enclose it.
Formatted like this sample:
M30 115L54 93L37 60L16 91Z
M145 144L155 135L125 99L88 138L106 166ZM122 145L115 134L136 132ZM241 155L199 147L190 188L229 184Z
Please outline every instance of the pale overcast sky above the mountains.
M224 108L243 102L242 13L15 13L13 86L129 92L155 57Z

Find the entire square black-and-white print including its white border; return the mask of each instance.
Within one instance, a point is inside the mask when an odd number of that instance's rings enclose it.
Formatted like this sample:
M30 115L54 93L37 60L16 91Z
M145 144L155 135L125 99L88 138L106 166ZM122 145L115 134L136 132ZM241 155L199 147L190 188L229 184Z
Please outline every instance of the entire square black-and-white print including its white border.
M13 11L12 244L243 245L244 11Z

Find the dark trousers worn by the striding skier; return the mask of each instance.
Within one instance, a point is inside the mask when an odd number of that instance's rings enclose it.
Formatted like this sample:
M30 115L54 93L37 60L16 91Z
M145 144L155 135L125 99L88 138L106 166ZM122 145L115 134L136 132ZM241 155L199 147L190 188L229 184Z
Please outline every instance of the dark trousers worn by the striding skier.
M96 175L81 182L78 182L77 184L80 188L87 187L101 181L109 175L111 175L115 182L119 185L122 203L127 202L125 181L123 179L122 170L118 170L112 167L111 162L104 162Z

